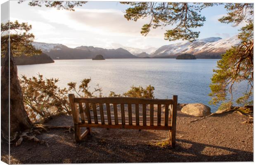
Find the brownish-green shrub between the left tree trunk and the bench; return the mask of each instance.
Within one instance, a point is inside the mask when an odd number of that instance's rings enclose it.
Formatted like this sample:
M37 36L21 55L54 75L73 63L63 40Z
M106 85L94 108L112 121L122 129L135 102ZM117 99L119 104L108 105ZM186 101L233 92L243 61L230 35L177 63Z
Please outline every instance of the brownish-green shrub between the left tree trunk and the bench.
M71 114L68 90L58 87L57 82L59 82L57 78L43 80L43 75L40 74L38 78L21 77L24 105L31 120L49 117L60 112Z

